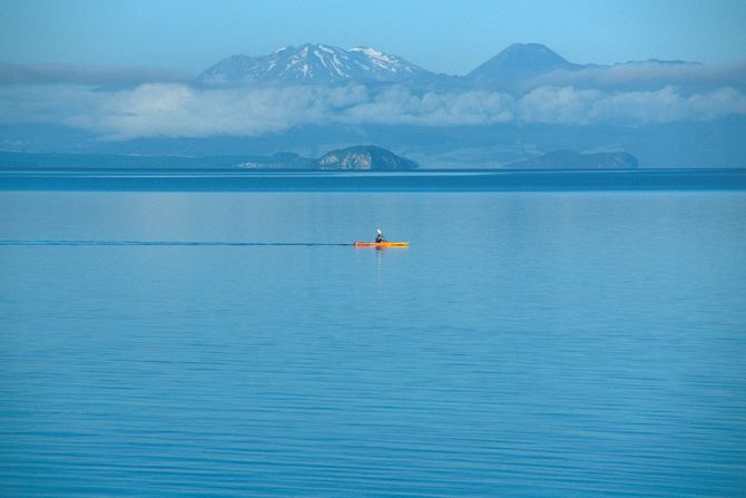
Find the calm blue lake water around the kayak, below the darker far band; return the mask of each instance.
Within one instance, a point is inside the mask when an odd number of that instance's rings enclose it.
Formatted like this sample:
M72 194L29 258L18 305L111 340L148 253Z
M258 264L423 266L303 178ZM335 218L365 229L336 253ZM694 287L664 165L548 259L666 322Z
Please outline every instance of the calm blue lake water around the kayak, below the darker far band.
M2 496L746 495L744 192L1 192L0 240Z

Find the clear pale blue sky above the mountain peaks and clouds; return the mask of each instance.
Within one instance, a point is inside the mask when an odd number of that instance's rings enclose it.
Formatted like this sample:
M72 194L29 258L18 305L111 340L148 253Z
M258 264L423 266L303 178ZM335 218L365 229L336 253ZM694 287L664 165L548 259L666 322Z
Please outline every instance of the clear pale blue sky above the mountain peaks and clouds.
M465 74L511 42L573 62L746 59L744 0L0 0L0 64L198 72L306 41Z

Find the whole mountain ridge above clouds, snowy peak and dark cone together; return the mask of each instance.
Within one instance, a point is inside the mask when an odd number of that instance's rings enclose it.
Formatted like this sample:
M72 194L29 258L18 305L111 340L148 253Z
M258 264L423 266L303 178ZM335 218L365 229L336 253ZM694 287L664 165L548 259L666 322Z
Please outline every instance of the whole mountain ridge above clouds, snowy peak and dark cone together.
M648 59L614 65L575 64L542 43L512 43L467 75L435 74L382 50L325 43L286 46L264 56L234 55L200 72L208 87L244 85L403 85L415 90L498 89L529 91L547 80L614 71L620 67L681 67L699 62ZM576 76L572 76L576 75Z

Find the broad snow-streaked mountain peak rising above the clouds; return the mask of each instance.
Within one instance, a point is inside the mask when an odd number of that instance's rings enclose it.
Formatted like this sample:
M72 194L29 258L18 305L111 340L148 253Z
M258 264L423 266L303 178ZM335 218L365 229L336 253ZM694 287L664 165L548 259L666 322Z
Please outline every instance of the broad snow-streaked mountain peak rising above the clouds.
M328 85L399 82L429 75L433 74L373 48L344 50L328 45L305 43L284 47L268 56L229 57L207 68L199 75L199 80L218 85L276 81Z

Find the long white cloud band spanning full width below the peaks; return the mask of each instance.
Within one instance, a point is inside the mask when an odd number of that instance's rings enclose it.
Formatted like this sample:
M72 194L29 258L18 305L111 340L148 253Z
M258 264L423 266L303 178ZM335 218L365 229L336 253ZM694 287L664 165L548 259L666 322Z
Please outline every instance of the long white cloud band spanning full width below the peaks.
M0 124L63 124L114 140L258 136L303 125L647 125L733 115L746 115L746 96L734 87L691 92L677 86L603 91L548 85L522 96L362 85L216 89L149 82L111 91L77 85L0 88Z

